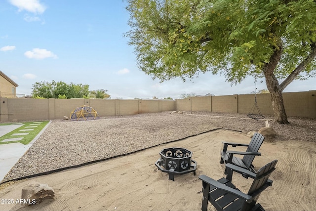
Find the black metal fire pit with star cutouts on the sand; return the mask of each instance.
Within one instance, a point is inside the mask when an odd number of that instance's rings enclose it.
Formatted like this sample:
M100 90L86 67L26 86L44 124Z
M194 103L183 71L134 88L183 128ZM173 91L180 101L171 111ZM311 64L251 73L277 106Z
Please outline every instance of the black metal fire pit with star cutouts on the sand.
M169 173L169 179L174 180L174 174L192 172L196 175L197 162L192 160L192 152L184 148L166 148L160 153L155 165L162 172Z

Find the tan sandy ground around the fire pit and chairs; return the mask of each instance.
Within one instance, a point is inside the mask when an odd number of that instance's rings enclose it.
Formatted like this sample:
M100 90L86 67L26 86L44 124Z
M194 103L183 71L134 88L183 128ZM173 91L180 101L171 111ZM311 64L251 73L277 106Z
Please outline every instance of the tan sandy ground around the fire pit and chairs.
M198 211L202 202L198 176L224 176L224 165L219 163L222 141L249 143L250 138L241 132L219 129L93 165L18 181L0 190L1 202L20 199L22 188L31 181L48 184L55 198L29 207L0 202L0 211ZM168 174L155 166L158 153L168 147L191 150L197 175L191 172L168 180ZM262 156L253 162L256 169L278 160L270 177L273 186L258 200L266 211L316 210L316 143L264 142L260 152ZM247 192L252 179L235 173L233 183ZM208 205L213 211L214 207Z

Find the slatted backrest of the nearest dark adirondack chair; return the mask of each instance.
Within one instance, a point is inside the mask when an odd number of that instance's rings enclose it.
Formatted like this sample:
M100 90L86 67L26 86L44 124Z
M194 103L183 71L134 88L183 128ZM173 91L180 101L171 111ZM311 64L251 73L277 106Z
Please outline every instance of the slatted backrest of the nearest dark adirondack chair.
M256 204L261 192L269 186L267 181L272 171L276 169L276 163L277 160L274 160L258 170L248 191L248 195L253 197L253 201L250 204L245 202L241 210L248 210L247 208L252 208Z

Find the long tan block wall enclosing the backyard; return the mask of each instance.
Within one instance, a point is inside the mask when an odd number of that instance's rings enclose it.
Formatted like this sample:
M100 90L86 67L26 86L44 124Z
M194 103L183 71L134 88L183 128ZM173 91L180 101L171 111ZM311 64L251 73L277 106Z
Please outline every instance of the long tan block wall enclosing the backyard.
M198 96L176 100L121 99L31 99L0 97L0 122L53 120L70 116L77 107L87 105L99 116L125 116L163 111L207 111L248 114L254 105L254 94ZM316 90L284 92L288 116L316 118ZM257 105L263 115L273 115L270 94L257 94Z

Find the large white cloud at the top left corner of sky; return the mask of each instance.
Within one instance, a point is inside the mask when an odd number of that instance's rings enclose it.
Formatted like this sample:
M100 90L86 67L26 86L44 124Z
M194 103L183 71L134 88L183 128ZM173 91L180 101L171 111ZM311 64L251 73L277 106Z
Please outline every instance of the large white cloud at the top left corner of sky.
M9 0L10 3L19 8L19 12L26 10L33 13L43 13L46 6L40 0Z

